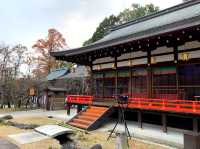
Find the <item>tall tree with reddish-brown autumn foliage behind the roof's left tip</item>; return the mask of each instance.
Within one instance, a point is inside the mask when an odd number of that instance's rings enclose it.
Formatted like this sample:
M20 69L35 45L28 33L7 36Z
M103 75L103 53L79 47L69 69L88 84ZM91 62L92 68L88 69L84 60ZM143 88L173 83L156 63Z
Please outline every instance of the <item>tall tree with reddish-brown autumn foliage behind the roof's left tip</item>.
M51 57L50 52L59 51L64 47L67 47L67 44L63 35L54 28L49 29L47 38L37 40L32 46L32 48L37 49L38 53L38 67L33 72L45 76L52 69L62 67L63 62L56 61Z

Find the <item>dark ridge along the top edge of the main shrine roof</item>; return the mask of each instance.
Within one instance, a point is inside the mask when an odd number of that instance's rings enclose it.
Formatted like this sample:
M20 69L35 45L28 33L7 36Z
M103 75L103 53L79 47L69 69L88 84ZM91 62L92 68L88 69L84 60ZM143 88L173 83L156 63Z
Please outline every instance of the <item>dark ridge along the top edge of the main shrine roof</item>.
M180 9L183 9L183 8L186 8L186 7L189 7L189 6L198 4L198 3L200 3L200 0L190 0L190 1L188 1L188 2L180 3L180 4L178 4L178 5L175 5L175 6L172 6L172 7L163 9L163 10L160 10L160 11L158 11L158 12L155 12L155 13L152 13L152 14L149 14L149 15L146 15L146 16L143 16L143 17L139 17L139 18L137 18L137 19L133 19L133 20L128 21L128 22L126 22L126 23L113 26L113 27L111 27L109 33L111 33L112 31L116 31L116 30L118 30L118 29L124 28L124 27L128 27L128 26L130 26L130 25L139 23L139 22L143 22L143 21L145 21L145 20L149 20L149 19L152 19L152 18L161 16L161 15L164 15L164 14L167 14L167 13L170 13L170 12L174 12L174 11L177 11L177 10L180 10Z

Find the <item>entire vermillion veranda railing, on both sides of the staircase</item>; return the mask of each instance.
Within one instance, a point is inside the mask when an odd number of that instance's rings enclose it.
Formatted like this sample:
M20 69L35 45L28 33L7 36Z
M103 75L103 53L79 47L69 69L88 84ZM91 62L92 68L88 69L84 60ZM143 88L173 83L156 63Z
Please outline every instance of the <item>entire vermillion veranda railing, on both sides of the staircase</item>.
M93 102L93 96L68 95L66 101L68 103L90 105ZM128 107L146 110L200 114L200 101L190 100L129 98Z

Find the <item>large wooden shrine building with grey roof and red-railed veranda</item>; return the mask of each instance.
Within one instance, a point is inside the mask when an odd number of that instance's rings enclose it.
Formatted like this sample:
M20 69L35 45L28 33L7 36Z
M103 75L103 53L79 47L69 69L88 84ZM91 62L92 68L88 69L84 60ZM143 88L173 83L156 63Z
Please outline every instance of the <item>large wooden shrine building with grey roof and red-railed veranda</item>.
M160 116L164 131L185 133L185 149L199 147L199 0L115 26L93 44L51 55L91 68L91 96L71 96L72 103L106 106L113 95L128 95L140 127Z

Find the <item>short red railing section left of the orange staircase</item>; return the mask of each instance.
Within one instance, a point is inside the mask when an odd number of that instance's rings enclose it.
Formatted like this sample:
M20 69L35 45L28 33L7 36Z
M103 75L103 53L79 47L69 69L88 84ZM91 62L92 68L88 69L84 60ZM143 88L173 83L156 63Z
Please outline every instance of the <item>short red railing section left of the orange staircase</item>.
M86 96L86 95L68 95L66 98L67 103L73 104L92 104L93 96Z

